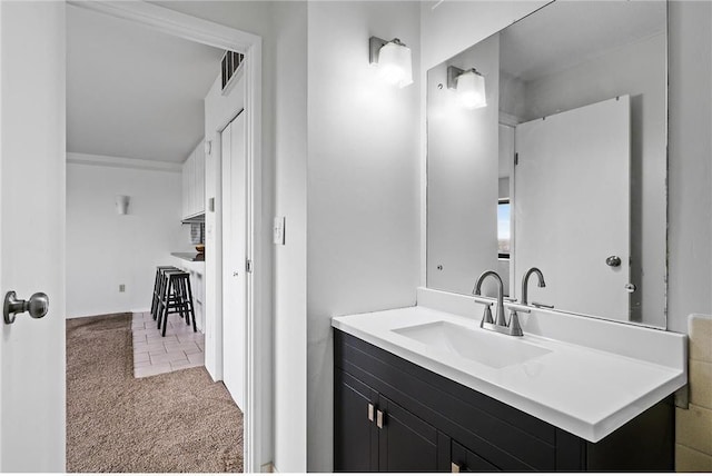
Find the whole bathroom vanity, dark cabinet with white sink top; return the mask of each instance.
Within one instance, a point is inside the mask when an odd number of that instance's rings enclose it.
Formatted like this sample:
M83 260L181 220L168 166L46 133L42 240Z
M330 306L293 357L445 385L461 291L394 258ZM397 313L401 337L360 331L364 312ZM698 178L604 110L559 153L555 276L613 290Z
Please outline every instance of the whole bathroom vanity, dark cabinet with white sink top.
M334 318L334 469L673 470L685 337L625 326L647 349L614 354L531 334L545 314L523 338L419 306Z

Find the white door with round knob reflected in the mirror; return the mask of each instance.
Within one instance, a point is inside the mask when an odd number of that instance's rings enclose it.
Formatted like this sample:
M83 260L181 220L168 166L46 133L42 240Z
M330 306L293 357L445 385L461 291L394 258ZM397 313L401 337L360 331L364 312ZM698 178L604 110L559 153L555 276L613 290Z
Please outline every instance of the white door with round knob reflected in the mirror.
M515 282L533 266L546 280L530 301L627 320L630 123L623 96L516 127Z

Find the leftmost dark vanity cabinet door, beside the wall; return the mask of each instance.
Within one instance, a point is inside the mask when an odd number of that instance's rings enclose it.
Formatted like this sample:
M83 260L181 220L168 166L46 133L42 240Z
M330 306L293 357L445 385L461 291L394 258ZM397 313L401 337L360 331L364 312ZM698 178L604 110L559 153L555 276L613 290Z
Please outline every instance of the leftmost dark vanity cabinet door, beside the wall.
M335 369L334 470L378 470L378 394L350 375Z

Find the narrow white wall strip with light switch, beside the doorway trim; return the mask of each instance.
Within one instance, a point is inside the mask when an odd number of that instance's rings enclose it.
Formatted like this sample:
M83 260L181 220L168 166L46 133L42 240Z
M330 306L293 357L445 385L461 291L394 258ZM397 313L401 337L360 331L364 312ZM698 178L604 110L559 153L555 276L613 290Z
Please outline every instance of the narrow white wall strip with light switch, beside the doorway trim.
M276 31L275 467L307 468L307 3L274 7Z

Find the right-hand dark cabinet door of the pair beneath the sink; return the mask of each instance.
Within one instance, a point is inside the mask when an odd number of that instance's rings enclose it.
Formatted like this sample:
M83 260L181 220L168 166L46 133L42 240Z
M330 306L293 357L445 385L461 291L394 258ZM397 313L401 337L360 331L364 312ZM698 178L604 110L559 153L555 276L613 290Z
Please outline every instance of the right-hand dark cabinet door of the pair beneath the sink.
M435 473L437 430L403 407L380 396L378 469L382 472Z

